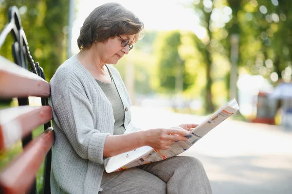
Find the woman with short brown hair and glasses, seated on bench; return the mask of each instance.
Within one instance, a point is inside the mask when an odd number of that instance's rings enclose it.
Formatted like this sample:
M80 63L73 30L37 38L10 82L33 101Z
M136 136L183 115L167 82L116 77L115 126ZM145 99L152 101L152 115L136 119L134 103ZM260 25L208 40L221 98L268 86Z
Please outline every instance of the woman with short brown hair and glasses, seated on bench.
M105 158L145 145L168 149L173 141L186 141L188 131L182 129L123 134L131 121L130 99L119 72L108 64L116 64L133 49L143 28L120 4L95 8L80 30L80 52L51 79L53 194L211 193L201 162L192 157L173 157L110 174L104 170Z

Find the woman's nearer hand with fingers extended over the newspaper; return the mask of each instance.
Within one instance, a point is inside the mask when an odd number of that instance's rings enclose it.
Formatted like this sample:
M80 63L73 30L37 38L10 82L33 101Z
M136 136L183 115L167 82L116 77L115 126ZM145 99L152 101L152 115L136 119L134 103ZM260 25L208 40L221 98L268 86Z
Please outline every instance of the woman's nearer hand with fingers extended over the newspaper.
M144 143L154 149L167 150L174 141L187 141L190 132L184 129L148 129L144 131Z

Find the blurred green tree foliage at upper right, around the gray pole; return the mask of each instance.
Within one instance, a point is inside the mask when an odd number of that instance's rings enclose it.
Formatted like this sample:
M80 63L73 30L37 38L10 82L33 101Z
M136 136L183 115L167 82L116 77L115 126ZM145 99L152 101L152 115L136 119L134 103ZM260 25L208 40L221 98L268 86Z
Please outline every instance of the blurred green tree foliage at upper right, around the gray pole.
M206 90L202 90L204 98L208 98L208 88L216 100L226 98L230 85L231 35L239 36L238 73L260 74L274 85L271 74L291 80L292 70L292 17L289 14L292 4L286 0L213 0L212 4L203 0L194 0L192 5L200 18L200 24L206 29L206 36L194 38L196 48L202 54L201 65L205 65L207 80ZM210 6L212 5L212 6ZM229 22L217 26L217 18L213 14L218 10L229 13ZM228 10L231 9L232 12ZM227 10L227 11L226 11ZM227 16L224 13L223 15ZM213 16L213 17L212 17ZM222 68L219 68L221 61ZM221 71L220 69L225 69ZM211 72L210 76L208 71ZM225 76L219 75L224 72ZM213 82L210 83L209 79ZM236 82L233 80L232 82ZM225 82L226 87L221 83ZM220 89L218 87L220 86ZM219 92L221 91L221 92ZM226 92L227 91L227 92ZM223 95L222 95L223 94ZM228 97L227 97L228 98ZM205 105L210 100L206 99ZM207 106L205 106L207 108Z

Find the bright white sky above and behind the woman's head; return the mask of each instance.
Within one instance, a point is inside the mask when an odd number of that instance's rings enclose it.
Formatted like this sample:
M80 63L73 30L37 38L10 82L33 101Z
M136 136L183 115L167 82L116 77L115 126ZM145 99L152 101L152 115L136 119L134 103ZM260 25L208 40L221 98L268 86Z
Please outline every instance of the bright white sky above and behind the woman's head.
M73 53L79 51L76 40L85 18L95 7L106 2L118 2L131 10L144 22L146 31L181 29L191 30L200 38L205 36L205 30L199 25L198 16L193 9L185 6L192 0L80 0L75 5L77 13L73 23Z

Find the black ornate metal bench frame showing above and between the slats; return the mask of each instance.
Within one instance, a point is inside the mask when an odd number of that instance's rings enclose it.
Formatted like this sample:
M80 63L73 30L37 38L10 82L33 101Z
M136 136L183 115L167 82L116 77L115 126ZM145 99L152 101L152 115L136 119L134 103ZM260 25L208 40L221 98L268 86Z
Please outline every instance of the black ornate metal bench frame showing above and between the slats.
M3 45L7 35L12 34L14 43L12 44L12 55L14 62L26 69L29 70L28 65L31 67L31 71L41 78L45 79L44 71L39 66L38 62L34 63L33 57L29 51L28 41L26 39L26 35L24 30L21 26L21 19L18 12L18 8L16 6L10 7L9 12L9 23L4 27L0 34L0 48ZM27 63L28 61L28 63ZM41 98L42 106L48 106L48 98ZM29 105L28 97L20 97L18 98L18 105L19 106L26 106ZM33 118L32 118L33 119ZM51 127L51 122L44 124L44 129L48 129ZM30 141L32 141L32 133L27 135L25 138L22 139L22 146L25 147ZM51 171L51 149L48 152L46 159L45 159L45 169L44 169L44 180L43 180L43 193L50 194L50 171ZM30 189L31 194L37 193L37 185L36 181L32 185Z

